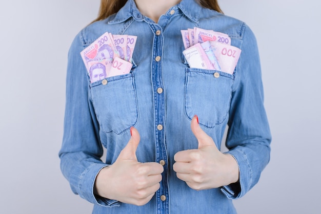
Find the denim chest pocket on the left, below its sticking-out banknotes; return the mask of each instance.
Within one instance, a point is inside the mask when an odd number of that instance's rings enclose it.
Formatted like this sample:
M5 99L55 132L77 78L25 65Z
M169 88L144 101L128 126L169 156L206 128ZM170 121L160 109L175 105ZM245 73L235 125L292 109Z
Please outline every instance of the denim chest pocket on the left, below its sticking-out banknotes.
M104 132L121 134L138 119L134 74L113 76L90 84L96 117Z

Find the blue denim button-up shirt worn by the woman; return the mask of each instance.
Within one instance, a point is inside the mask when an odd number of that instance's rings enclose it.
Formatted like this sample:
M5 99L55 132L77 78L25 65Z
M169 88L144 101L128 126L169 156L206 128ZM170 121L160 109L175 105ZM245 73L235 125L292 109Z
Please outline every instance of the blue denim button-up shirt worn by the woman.
M189 68L180 30L193 27L226 33L242 50L233 75ZM80 52L107 31L137 36L133 68L107 78L106 85L91 83ZM83 29L69 51L66 96L61 169L72 191L94 204L93 213L236 213L231 199L244 196L269 162L271 136L255 37L245 23L194 0L172 7L157 24L129 0L118 13ZM228 125L226 146L239 166L238 183L196 191L176 177L175 153L198 145L190 128L194 115L218 148ZM117 159L131 126L141 135L138 161L165 161L160 188L144 206L93 194L96 175Z

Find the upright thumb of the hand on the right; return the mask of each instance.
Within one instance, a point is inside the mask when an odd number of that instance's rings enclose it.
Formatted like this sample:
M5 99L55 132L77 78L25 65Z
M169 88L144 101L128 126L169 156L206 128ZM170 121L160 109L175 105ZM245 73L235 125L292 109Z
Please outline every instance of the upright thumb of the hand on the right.
M191 129L198 141L198 148L215 145L213 139L200 128L197 115L192 118Z

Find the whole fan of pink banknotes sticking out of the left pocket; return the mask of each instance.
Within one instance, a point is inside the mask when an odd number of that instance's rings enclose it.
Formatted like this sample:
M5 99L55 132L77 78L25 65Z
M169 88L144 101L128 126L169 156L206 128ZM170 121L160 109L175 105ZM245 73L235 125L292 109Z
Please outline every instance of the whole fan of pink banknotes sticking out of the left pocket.
M128 74L137 36L104 33L81 52L91 82Z

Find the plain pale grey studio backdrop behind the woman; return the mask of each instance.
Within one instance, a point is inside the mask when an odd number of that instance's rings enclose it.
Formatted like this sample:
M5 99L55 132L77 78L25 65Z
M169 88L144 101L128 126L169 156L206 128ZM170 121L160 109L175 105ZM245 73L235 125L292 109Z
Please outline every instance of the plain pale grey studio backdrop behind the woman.
M0 213L91 213L59 169L67 52L99 0L0 2ZM239 214L321 213L320 1L220 0L254 31L271 161Z

